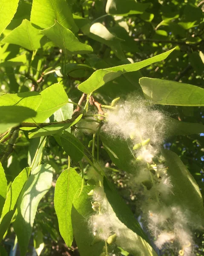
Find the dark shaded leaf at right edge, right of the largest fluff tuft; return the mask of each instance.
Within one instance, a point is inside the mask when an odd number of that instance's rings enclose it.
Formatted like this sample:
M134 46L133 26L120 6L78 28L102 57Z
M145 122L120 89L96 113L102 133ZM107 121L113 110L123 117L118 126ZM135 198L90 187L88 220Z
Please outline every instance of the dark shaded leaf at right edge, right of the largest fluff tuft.
M199 123L181 122L171 117L167 118L167 134L166 136L174 135L189 135L204 133L204 125Z

